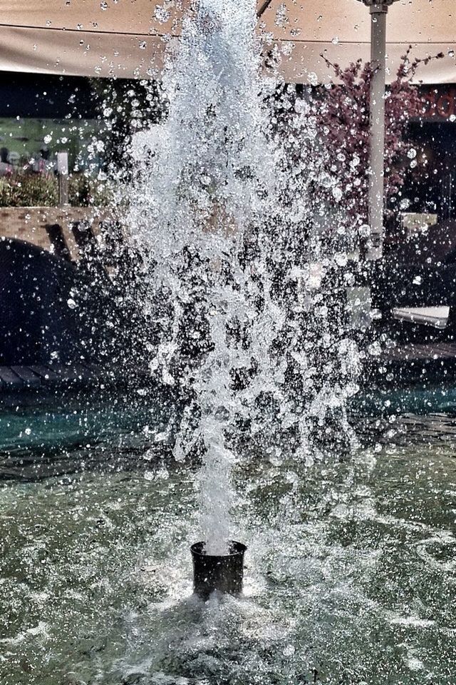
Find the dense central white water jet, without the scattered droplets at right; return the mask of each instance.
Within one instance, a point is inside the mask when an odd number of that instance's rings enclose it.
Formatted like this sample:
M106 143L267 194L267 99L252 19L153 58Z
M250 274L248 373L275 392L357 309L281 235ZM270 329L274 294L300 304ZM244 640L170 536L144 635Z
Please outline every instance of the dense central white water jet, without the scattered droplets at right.
M244 231L261 220L266 188L274 184L255 24L251 0L201 0L196 16L184 20L164 76L169 116L142 136L147 162L130 216L154 288L172 303L170 333L156 355L162 380L195 395L175 457L185 458L195 445L202 452L201 524L209 554L226 552L230 539L234 455L226 430L245 411L233 372L249 364L249 355L229 334L234 322L253 316L239 253ZM198 263L192 276L189 250ZM189 310L207 320L209 351L196 367L181 365L174 377L180 332L192 326Z

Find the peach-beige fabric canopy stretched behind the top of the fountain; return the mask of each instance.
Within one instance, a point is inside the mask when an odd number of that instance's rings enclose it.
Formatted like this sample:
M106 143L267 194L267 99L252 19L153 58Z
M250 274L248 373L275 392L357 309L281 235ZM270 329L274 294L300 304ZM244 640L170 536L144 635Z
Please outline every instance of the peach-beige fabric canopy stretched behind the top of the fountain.
M189 5L190 0L0 0L0 70L120 78L147 77L150 68L160 73L163 36L178 36L182 9ZM272 0L258 31L272 34L282 55L279 70L289 83L331 79L321 54L343 66L370 55L370 15L357 0ZM420 68L420 81L455 83L455 42L455 0L398 0L390 7L392 76L412 44L416 57L445 54Z

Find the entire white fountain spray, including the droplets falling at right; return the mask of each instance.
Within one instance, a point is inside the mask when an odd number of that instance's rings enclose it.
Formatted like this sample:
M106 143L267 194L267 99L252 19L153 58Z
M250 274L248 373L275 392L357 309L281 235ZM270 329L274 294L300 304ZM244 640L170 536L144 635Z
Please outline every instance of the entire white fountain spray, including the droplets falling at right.
M333 181L309 106L285 127L271 111L278 83L260 76L255 23L253 1L202 0L163 78L169 116L135 141L132 240L163 305L152 368L187 397L175 457L202 455L209 554L232 537L239 435L268 449L281 435L311 462L309 417L323 427L337 410L345 425L356 391L356 345L331 337L331 260L309 229L324 214L315 189Z

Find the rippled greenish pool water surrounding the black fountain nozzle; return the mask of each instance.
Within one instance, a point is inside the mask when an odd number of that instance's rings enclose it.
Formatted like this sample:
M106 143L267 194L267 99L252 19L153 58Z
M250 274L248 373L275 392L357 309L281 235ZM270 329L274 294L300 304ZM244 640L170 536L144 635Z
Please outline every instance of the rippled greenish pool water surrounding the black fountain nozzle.
M310 470L286 450L245 457L245 594L204 605L197 470L170 462L160 420L138 412L111 422L111 442L95 422L65 450L42 415L1 417L2 685L456 684L454 420L365 422L351 457ZM20 472L32 453L46 477Z

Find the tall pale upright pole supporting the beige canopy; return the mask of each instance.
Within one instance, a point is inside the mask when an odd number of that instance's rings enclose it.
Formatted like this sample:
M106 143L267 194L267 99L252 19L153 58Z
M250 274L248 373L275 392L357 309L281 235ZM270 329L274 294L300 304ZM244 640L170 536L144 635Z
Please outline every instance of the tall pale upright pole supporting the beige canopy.
M366 258L380 259L383 252L383 209L385 176L385 66L386 15L388 5L380 2L371 7L371 145L369 176L369 225L371 235L366 243Z

